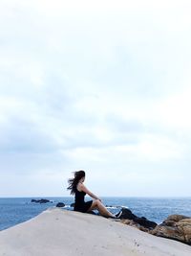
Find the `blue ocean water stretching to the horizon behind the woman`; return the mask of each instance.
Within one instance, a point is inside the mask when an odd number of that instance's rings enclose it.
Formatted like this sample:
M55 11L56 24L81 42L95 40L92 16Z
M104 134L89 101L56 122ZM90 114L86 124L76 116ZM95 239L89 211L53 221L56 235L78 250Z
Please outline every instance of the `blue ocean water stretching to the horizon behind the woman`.
M28 221L57 202L66 204L63 210L73 210L70 206L74 202L72 197L46 199L52 202L44 204L31 202L32 198L0 198L0 230ZM116 214L121 207L127 207L138 217L143 216L157 223L172 214L191 217L191 198L102 198L102 202L112 213Z

